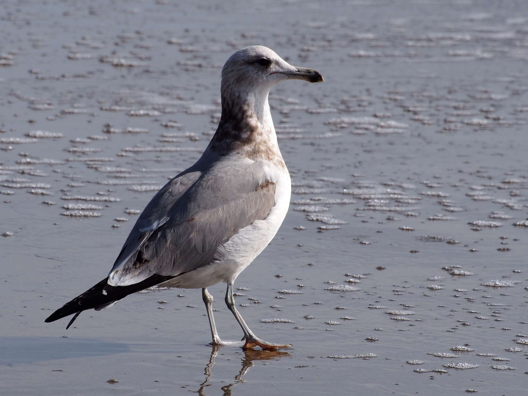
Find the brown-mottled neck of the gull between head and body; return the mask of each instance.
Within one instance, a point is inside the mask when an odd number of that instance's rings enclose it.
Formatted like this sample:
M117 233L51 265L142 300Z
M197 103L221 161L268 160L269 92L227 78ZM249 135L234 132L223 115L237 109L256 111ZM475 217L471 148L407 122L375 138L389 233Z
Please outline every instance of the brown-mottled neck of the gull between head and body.
M222 81L222 116L208 149L284 165L269 110L269 89L235 91Z

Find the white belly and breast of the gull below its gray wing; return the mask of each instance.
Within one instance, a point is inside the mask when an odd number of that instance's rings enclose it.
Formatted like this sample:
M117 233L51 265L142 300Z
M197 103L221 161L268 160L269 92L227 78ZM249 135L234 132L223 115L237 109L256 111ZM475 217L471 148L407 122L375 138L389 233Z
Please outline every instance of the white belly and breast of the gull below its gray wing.
M161 284L166 287L203 288L234 282L237 276L268 246L280 228L290 203L291 181L287 169L275 173L275 205L267 218L254 221L220 246L210 265L197 268Z

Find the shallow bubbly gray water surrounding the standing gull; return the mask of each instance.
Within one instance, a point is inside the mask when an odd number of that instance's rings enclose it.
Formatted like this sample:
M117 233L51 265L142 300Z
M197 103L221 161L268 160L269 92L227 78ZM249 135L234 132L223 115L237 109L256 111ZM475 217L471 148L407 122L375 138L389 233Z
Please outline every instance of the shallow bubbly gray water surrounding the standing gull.
M0 2L2 393L524 394L528 18L483 3ZM293 348L206 346L199 290L45 324L200 156L252 44L325 77L271 92L292 204L235 283Z

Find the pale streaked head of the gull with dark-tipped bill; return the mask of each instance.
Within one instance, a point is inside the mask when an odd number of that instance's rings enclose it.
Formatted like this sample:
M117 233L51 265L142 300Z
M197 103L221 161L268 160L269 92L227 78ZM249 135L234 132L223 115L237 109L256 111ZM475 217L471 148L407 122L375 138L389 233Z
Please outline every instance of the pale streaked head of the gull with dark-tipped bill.
M262 45L252 45L235 52L222 68L222 91L242 88L269 89L285 80L324 81L318 71L292 66Z

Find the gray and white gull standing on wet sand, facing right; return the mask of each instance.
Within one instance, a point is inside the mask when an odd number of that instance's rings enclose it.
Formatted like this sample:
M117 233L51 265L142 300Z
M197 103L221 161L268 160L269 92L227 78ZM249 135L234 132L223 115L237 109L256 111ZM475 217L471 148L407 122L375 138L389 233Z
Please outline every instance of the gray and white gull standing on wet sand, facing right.
M222 68L222 115L211 142L190 168L147 204L108 276L45 322L101 310L152 286L201 288L212 345L222 342L207 288L227 283L225 304L242 327L244 349L290 344L260 340L234 305L233 283L275 237L288 211L291 181L280 154L268 95L285 80L322 82L313 69L290 65L265 46L248 46Z

